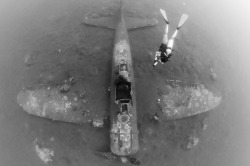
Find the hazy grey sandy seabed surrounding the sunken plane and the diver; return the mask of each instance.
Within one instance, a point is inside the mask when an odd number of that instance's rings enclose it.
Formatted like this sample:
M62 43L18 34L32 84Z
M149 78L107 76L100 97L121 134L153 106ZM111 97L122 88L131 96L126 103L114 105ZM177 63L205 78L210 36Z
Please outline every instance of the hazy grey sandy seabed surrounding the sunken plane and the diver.
M117 6L114 0L0 2L0 166L45 165L36 154L35 139L55 151L48 165L122 165L96 154L108 150L107 125L100 129L53 122L26 114L16 103L22 87L46 83L45 78L60 80L69 73L81 77L90 89L95 90L90 85L96 82L108 87L114 33L86 27L81 20L89 12ZM129 32L141 145L136 157L141 165L248 165L249 3L127 0L125 6L134 15L159 19L156 27ZM167 11L170 33L183 12L190 18L176 39L176 56L154 69L151 54L158 48L164 29L159 8ZM28 55L32 58L27 66L24 60ZM210 77L211 68L216 80ZM150 120L156 109L152 87L163 79L201 82L221 93L223 101L212 112L154 123ZM204 119L206 130L201 129ZM200 139L189 151L182 148L188 135ZM55 141L49 141L51 137Z

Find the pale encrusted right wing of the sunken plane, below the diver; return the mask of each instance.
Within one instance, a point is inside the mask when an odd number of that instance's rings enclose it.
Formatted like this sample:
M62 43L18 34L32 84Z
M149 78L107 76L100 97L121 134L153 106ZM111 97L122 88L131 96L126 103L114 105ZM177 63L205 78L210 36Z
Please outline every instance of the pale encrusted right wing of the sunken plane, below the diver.
M161 89L159 106L169 120L203 113L217 107L221 97L214 95L202 84L167 80ZM158 100L159 101L159 100Z

